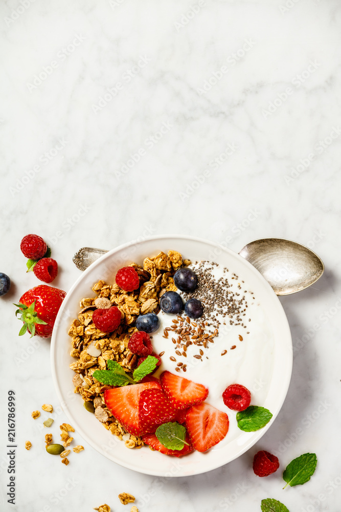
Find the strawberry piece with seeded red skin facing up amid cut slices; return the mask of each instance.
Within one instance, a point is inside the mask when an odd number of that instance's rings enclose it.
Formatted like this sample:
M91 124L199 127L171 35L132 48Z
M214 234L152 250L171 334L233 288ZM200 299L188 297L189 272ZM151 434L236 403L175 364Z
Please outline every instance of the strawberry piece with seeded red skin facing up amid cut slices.
M174 421L175 409L163 390L146 389L139 402L139 424L144 434L153 433L158 426Z

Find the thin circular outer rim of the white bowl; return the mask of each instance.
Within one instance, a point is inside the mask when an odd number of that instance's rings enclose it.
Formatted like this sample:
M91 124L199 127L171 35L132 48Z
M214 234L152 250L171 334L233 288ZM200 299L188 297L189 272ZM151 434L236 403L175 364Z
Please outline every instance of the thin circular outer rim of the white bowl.
M250 441L246 442L243 445L243 447L241 448L240 452L238 452L238 454L236 454L235 456L231 457L228 461L224 461L223 463L213 464L213 465L209 466L208 468L203 468L203 469L200 467L199 464L197 464L198 467L195 467L194 470L191 471L190 473L188 473L188 472L181 473L180 472L179 474L173 474L173 473L169 473L169 472L165 473L164 471L158 471L157 467L153 468L152 470L149 470L148 468L141 468L141 467L139 467L139 465L136 465L136 464L122 463L119 460L114 460L113 457L111 457L109 455L109 453L107 453L102 448L100 449L99 446L95 445L94 440L89 437L89 435L86 433L86 431L82 428L82 425L79 424L77 422L77 420L75 421L75 418L71 415L71 412L69 411L69 408L67 407L67 403L64 401L64 397L62 396L62 393L60 391L59 384L58 384L57 368L56 368L56 364L55 364L55 359L56 359L55 358L55 352L56 352L56 348L57 348L56 347L57 333L58 333L58 330L59 330L58 328L59 328L59 325L60 325L61 317L63 315L64 307L65 307L65 304L67 303L67 298L77 288L78 284L85 279L86 275L90 271L92 271L96 266L98 266L101 263L103 263L106 259L110 259L113 254L121 251L122 249L131 247L131 246L140 246L140 245L142 245L142 244L144 244L144 243L146 243L148 241L156 241L156 240L165 241L165 240L169 240L169 239L191 240L191 241L198 242L198 243L208 244L210 246L216 247L217 249L219 249L222 252L226 252L226 253L232 255L233 257L237 257L240 260L242 260L242 262L247 267L249 267L249 269L253 273L257 274L258 279L263 281L263 285L265 287L267 287L269 293L272 294L272 298L275 300L276 306L278 308L278 312L282 316L281 329L283 330L283 337L287 339L288 345L290 345L290 346L288 346L288 348L291 349L291 357L289 358L289 360L287 360L287 368L286 368L285 378L282 381L281 399L278 401L276 409L271 411L272 412L272 418L269 421L269 423L267 423L267 425L265 425L259 431L253 432L252 434L254 434L254 436L252 437L252 439ZM64 306L63 306L63 304L64 304ZM55 321L55 328L53 329L52 338L51 338L51 369L52 369L52 378L53 378L54 387L55 387L55 390L56 390L56 393L57 393L57 396L58 396L58 399L59 399L59 402L60 402L60 405L61 405L61 408L62 408L63 412L66 414L66 416L69 418L69 420L76 425L76 430L81 435L81 437L90 446L92 446L98 453L100 453L101 455L104 455L106 458L108 458L112 462L115 462L116 464L121 465L122 467L128 468L128 469L133 470L133 471L137 471L139 473L146 474L146 475L160 476L160 477L162 477L162 476L167 476L167 477L169 477L169 476L171 476L171 477L192 476L192 475L197 475L197 474L202 474L202 473L206 473L206 472L209 472L209 471L213 471L216 468L221 467L222 465L225 465L225 464L227 464L229 462L232 462L236 458L240 457L247 450L249 450L256 442L258 442L259 439L270 428L270 426L275 421L276 417L278 416L278 414L279 414L279 412L280 412L280 410L281 410L281 408L283 406L284 400L286 398L286 395L287 395L287 392L288 392L288 389L289 389L291 373L292 373L292 360L293 360L293 357L292 357L292 345L291 345L291 343L292 343L292 341L291 341L291 332L290 332L290 327L289 327L288 319L286 317L285 311L284 311L284 309L282 307L282 304L281 304L278 296L276 295L275 291L271 288L271 286L268 283L268 281L266 281L265 278L262 276L262 274L251 263L249 263L242 256L240 256L239 253L233 251L232 249L224 247L221 244L218 244L218 243L210 241L210 240L202 239L202 238L199 238L199 237L188 236L188 235L183 235L183 234L181 234L181 235L179 235L179 234L153 235L153 236L150 236L150 237L146 237L146 238L144 238L143 240L140 240L140 241L139 240L138 241L134 240L134 241L126 242L124 244L121 244L121 245L119 245L119 246L109 250L108 252L103 254L98 260L96 260L94 263L89 265L88 268L86 268L84 271L82 271L82 273L79 276L79 278L74 282L74 284L71 286L69 291L67 291L67 294L66 294L66 296L64 298L64 301L63 301L63 303L62 303L62 305L61 305L61 307L60 307L60 309L58 311L58 314L57 314L57 317L56 317L56 321ZM169 458L173 459L173 457L169 457ZM137 459L139 459L139 458L137 457ZM179 461L179 460L181 460L181 459L177 458L177 461ZM155 464L155 466L156 466L156 464Z

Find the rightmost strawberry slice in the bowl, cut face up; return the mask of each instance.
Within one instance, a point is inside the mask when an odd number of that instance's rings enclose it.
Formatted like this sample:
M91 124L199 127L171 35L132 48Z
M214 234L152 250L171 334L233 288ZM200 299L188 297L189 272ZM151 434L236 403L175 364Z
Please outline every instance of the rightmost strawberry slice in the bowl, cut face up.
M188 411L186 426L194 449L206 452L226 436L229 418L209 403L199 403Z

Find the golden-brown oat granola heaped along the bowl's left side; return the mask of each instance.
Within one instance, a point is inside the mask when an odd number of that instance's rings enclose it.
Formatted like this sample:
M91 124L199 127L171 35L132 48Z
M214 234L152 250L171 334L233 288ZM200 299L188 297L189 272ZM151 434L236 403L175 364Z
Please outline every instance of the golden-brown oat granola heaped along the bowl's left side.
M93 287L95 297L83 298L78 318L74 319L69 335L72 336L71 355L76 359L70 368L76 372L73 379L75 393L79 393L85 402L92 402L96 418L103 426L119 439L126 434L123 426L112 416L104 403L104 391L110 386L103 386L93 377L95 370L104 370L108 359L115 360L127 372L137 366L138 357L128 349L130 336L137 332L135 320L140 314L158 313L160 297L166 291L176 291L173 275L180 267L190 261L184 260L179 252L170 250L168 254L160 252L155 257L146 258L143 267L133 263L130 266L138 272L140 287L128 292L117 284L99 281ZM97 308L117 306L121 311L121 325L111 333L98 330L92 316ZM87 410L91 403L86 404ZM128 448L141 447L140 437L124 437Z

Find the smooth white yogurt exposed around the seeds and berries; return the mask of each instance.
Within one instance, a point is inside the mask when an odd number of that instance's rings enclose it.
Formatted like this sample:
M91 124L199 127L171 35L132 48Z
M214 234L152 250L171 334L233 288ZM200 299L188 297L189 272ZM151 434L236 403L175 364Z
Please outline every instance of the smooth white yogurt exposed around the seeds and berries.
M208 264L205 264L206 268L208 266ZM196 265L191 265L191 267L195 271ZM238 284L243 280L241 275L238 276L238 280L232 280L233 272L225 270L224 273L220 266L214 267L212 273L216 279L221 276L228 278L231 285L229 290L240 293ZM221 315L216 317L221 322L219 335L214 338L214 343L208 344L207 349L200 347L204 352L202 360L194 358L194 355L199 353L199 348L196 345L188 347L187 357L185 358L175 354L176 345L172 343L172 337L177 338L177 335L169 331L169 337L163 337L164 329L174 325L172 320L177 315L168 315L161 311L159 313L161 326L151 335L154 351L158 354L164 352L162 365L155 376L160 375L164 370L168 370L171 373L203 384L209 389L209 396L206 401L228 414L230 420L228 435L213 450L220 449L241 433L237 426L236 412L228 409L223 403L222 393L225 388L231 384L241 384L251 392L251 404L263 406L271 381L274 362L274 336L270 322L266 311L257 301L257 296L250 292L244 293L244 290L248 289L247 283L243 283L241 286L243 288L242 295L245 295L248 305L246 321L244 322L246 328L240 325L229 325L227 316L224 318ZM184 314L183 312L181 316L184 317ZM251 322L248 322L248 318L251 319ZM200 319L194 322L198 323ZM224 322L227 325L224 326ZM249 334L246 334L247 332ZM242 336L242 341L240 341L239 335ZM236 348L231 350L234 345ZM224 350L227 350L227 353L221 355ZM176 358L176 362L170 359L171 356ZM180 361L187 364L186 373L175 371L176 363Z

